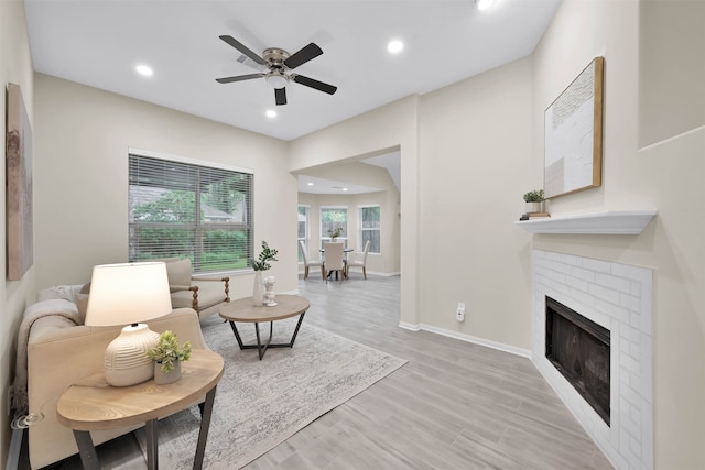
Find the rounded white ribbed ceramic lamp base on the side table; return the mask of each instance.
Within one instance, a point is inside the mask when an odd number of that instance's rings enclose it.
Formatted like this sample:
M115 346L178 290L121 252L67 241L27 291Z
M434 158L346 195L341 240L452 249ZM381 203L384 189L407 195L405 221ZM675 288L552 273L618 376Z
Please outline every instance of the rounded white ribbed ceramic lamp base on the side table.
M154 362L147 351L159 341L159 334L144 324L122 328L105 354L106 380L112 386L130 386L154 376Z

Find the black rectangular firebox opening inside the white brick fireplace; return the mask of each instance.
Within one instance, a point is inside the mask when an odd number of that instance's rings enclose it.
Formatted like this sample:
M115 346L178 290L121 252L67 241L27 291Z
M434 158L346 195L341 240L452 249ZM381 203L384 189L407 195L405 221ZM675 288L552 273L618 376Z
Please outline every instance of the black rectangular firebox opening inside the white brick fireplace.
M609 330L546 297L546 358L609 425Z

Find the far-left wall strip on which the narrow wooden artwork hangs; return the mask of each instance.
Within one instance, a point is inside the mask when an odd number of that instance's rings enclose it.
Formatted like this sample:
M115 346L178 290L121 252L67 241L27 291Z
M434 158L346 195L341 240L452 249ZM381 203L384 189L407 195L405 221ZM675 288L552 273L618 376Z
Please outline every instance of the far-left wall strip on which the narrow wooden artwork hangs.
M24 3L22 1L0 1L0 109L4 116L6 86L8 83L20 85L24 107L31 122L34 121L33 109L33 73L30 43L24 19ZM4 122L4 119L3 119ZM6 160L4 125L2 127L2 145L0 145L2 162ZM1 181L4 181L4 163L0 165ZM0 240L6 242L6 194L0 192ZM36 230L36 228L35 228ZM36 253L35 253L36 259ZM0 250L0 266L7 266L6 250ZM10 416L8 403L8 387L14 376L14 351L17 350L17 331L22 320L22 313L28 303L34 298L34 267L24 274L20 281L0 283L0 466L6 467L8 448L10 445ZM3 278L4 278L3 274Z

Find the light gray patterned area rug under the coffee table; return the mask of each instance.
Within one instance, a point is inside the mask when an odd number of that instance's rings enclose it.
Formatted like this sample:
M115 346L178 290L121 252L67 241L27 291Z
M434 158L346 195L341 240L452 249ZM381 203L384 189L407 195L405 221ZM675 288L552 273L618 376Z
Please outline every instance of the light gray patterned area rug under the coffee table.
M253 324L237 324L246 343ZM261 325L264 336L269 324ZM289 342L295 319L274 323L274 341ZM240 351L230 325L204 325L206 343L225 359L204 468L237 469L406 363L323 329L301 326L293 349ZM191 469L198 439L197 407L159 423L160 468ZM141 430L140 430L141 433ZM143 435L139 436L143 442Z

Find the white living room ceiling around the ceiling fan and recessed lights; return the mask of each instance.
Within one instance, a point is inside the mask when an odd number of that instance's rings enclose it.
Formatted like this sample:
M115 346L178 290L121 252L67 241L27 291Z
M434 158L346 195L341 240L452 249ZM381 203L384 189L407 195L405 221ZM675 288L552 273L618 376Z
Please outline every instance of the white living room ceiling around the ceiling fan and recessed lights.
M25 10L36 72L293 140L531 54L558 4L497 0L479 11L474 0L25 0ZM256 53L293 54L315 42L324 54L296 73L337 92L290 83L288 105L276 107L264 79L216 83L260 72L238 61L224 34ZM404 42L398 55L387 52L392 39ZM138 64L154 75L138 75Z

